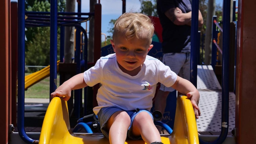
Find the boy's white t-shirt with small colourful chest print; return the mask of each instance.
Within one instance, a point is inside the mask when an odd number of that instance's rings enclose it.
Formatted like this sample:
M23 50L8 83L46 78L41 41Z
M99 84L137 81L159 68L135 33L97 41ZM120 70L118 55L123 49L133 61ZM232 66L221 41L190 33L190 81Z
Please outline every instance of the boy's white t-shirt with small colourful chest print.
M146 56L137 75L128 75L118 67L115 53L101 57L94 67L84 72L84 81L88 86L101 83L97 93L98 106L93 108L95 114L102 107L111 106L123 110L150 110L157 83L170 87L176 79L176 73L151 56Z

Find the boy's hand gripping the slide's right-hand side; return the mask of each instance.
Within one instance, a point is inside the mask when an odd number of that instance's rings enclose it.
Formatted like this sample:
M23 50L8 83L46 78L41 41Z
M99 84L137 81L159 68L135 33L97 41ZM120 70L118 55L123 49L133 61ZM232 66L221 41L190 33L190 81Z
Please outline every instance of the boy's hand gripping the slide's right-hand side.
M194 107L196 118L199 118L199 116L201 115L201 112L198 107L199 97L200 97L198 91L197 92L192 91L192 92L187 93L187 97L190 99L192 106Z

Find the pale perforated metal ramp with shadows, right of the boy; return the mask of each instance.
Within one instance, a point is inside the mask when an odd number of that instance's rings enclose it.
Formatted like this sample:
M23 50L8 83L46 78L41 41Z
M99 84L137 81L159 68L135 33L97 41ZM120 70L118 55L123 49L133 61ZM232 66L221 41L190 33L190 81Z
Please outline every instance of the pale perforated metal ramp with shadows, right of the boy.
M197 89L200 93L201 116L197 119L198 132L221 132L221 86L211 66L197 66ZM229 93L229 132L235 127L235 94Z

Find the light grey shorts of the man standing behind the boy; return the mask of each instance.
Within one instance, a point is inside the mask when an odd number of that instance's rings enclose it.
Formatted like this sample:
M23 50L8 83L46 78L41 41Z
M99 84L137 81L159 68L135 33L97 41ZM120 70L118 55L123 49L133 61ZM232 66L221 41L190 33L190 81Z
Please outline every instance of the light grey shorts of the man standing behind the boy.
M165 53L162 62L178 76L190 80L190 53ZM162 84L160 90L174 91L172 87L165 87Z

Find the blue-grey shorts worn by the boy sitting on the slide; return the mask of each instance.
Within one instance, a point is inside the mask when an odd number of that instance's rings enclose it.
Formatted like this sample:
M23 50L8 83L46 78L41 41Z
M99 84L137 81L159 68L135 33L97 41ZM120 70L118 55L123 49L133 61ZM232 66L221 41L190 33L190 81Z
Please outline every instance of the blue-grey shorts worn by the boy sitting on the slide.
M131 124L130 124L128 130L127 130L127 137L132 139L132 140L142 139L141 137L135 137L135 136L132 136L132 134L131 134L131 132L132 132L132 129L131 129L132 123L133 123L133 120L134 120L135 116L138 113L146 111L149 115L151 115L152 121L154 121L152 113L148 110L145 110L145 109L140 110L139 112L136 112L135 110L128 110L128 111L127 110L122 110L118 107L103 107L99 110L99 113L97 115L98 115L98 119L99 119L100 130L101 130L102 134L107 138L108 138L107 121L110 118L110 116L113 115L114 113L116 113L117 111L125 111L130 116Z

